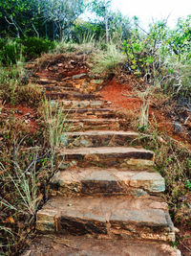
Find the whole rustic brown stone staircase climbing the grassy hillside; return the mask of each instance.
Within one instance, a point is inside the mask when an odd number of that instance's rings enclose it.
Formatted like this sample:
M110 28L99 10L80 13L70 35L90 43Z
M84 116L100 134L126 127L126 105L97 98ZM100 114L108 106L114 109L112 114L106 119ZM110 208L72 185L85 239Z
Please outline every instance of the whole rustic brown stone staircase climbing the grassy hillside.
M75 79L76 81L76 79ZM137 132L124 130L111 104L79 92L70 81L38 80L62 102L72 129L37 212L37 237L24 255L178 256L169 244L176 228L161 198L164 179L154 152Z

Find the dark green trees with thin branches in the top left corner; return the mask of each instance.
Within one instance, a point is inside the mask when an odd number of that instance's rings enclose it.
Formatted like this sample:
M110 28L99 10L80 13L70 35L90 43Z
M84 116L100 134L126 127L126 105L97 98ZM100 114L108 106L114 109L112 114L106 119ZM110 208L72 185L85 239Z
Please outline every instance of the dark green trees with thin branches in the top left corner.
M62 37L84 11L84 0L9 0L0 2L0 35Z

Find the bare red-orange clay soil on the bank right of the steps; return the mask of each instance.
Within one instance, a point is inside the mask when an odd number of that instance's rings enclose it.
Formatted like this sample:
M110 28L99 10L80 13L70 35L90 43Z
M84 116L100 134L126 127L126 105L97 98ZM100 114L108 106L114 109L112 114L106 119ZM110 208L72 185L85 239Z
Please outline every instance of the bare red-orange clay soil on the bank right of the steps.
M135 93L130 84L120 84L114 78L109 81L100 91L99 95L106 101L110 101L117 109L124 111L124 113L132 112L138 115L142 107L142 100L135 97ZM149 107L149 121L157 122L157 128L166 133L168 136L176 141L185 144L189 142L189 138L184 133L175 133L175 128L170 118L165 116L162 109L150 105ZM191 149L191 145L188 146Z

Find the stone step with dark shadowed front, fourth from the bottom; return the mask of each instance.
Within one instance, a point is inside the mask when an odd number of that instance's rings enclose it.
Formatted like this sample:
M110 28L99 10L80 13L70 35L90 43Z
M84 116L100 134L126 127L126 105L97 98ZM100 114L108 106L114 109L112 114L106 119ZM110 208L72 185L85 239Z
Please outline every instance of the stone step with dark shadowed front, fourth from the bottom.
M154 165L154 152L142 148L127 147L99 147L66 149L59 152L60 158L65 162L74 161L78 167L91 165L102 167L152 167Z

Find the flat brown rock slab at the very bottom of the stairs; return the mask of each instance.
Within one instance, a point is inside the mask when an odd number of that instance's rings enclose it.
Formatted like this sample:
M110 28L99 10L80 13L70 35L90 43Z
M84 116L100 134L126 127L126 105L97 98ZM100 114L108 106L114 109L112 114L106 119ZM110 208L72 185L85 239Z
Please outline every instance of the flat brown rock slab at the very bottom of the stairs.
M138 240L96 240L73 236L38 236L22 256L180 256L168 244Z

